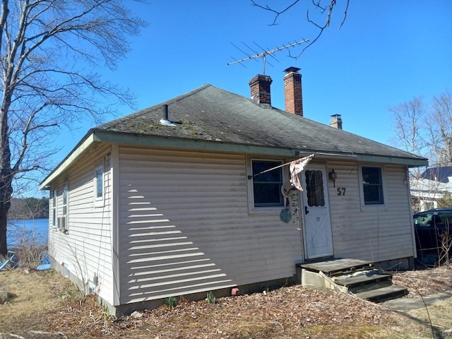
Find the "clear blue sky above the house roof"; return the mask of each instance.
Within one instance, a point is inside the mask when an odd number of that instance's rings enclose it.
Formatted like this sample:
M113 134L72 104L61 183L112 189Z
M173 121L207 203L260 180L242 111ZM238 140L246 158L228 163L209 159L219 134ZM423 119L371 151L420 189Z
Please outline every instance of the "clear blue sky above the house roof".
M291 0L256 0L284 8ZM304 116L328 124L331 114L342 114L343 129L390 143L393 136L388 107L423 95L452 90L451 0L350 0L343 27L345 2L338 0L331 27L298 59L281 51L266 66L271 76L272 105L284 109L283 70L302 70ZM273 22L273 14L249 0L156 0L133 5L149 25L131 40L132 50L115 71L99 69L105 80L129 88L136 109L143 109L210 83L245 97L248 82L262 73L262 61L227 66L246 57L232 44L254 54L242 42L262 52L302 39L313 39L306 6L299 1ZM319 18L319 23L323 20ZM232 44L231 44L232 43ZM301 47L291 49L298 54ZM120 107L119 115L135 109ZM61 161L93 127L86 124L66 135Z

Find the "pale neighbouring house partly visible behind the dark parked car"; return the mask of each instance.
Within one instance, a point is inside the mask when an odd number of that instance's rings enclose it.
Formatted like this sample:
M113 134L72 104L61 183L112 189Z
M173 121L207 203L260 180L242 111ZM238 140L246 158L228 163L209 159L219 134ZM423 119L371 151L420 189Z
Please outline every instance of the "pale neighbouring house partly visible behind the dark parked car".
M428 167L410 179L412 210L420 212L438 207L438 199L452 194L452 166Z

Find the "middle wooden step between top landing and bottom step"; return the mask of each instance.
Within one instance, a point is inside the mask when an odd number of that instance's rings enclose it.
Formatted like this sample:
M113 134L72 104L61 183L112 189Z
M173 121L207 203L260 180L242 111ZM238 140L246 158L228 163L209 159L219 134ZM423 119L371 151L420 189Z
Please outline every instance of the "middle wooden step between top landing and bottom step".
M381 274L370 272L367 274L359 274L343 279L335 279L334 282L340 286L347 287L348 292L353 294L376 290L377 288L392 285L391 274Z

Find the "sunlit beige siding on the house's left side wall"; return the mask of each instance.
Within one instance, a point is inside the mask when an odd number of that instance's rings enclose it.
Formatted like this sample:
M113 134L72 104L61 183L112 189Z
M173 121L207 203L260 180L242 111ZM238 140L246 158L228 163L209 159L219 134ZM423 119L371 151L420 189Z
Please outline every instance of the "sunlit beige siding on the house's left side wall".
M68 184L66 227L69 232L64 234L51 228L49 251L58 263L64 264L85 284L97 276L95 291L112 303L112 178L107 155L109 149L109 145L102 145L88 152L68 172L52 182L52 189L58 187L57 217L62 215L61 189L64 182ZM94 169L99 162L105 163L105 204L95 207Z

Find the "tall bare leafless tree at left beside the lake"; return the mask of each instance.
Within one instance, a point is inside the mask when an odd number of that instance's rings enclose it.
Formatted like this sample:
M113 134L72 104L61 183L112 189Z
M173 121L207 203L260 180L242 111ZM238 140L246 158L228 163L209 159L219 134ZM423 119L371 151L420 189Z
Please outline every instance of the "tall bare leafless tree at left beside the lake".
M46 172L52 136L100 121L108 112L97 110L100 100L130 102L95 67L114 68L143 25L121 0L1 0L0 258L13 179Z

